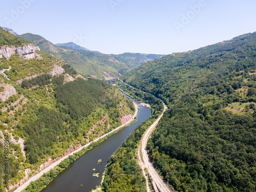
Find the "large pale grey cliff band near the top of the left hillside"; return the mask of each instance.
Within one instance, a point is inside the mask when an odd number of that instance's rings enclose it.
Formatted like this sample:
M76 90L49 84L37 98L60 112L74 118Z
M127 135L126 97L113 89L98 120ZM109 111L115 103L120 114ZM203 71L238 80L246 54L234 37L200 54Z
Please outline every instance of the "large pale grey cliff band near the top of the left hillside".
M40 50L39 47L34 45L26 45L22 47L4 46L0 49L0 58L6 57L9 59L12 55L18 54L25 59L37 58L39 55L35 53L36 50Z

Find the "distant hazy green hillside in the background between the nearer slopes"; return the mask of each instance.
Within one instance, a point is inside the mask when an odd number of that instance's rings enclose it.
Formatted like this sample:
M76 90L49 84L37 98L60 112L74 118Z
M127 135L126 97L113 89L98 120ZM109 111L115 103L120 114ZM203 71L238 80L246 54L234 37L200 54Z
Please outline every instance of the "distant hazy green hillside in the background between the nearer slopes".
M127 71L139 67L143 62L151 58L126 57L114 54L100 54L88 50L75 50L74 46L65 44L57 47L44 37L26 33L19 35L26 40L33 42L42 51L51 54L59 59L65 60L69 65L74 67L80 74L100 79L112 79L119 77ZM77 47L77 46L75 46ZM134 55L133 55L134 56ZM157 55L155 57L161 57Z

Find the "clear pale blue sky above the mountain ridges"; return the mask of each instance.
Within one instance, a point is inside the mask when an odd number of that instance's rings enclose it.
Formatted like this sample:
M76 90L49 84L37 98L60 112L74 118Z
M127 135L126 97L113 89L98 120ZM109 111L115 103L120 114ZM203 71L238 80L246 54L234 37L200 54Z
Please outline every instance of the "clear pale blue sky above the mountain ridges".
M107 54L171 54L256 31L255 0L12 0L1 7L2 27Z

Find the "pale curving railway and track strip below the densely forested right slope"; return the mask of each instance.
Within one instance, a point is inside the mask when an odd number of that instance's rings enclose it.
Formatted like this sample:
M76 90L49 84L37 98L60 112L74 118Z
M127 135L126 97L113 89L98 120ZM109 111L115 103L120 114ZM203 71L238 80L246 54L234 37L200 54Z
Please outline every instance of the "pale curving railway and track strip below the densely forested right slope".
M163 103L164 104L164 103ZM167 106L164 104L164 111L163 113L166 111ZM155 184L158 187L158 191L160 192L170 192L171 190L166 186L166 184L163 182L163 180L160 178L160 176L157 174L155 168L153 167L150 159L148 158L148 154L147 154L147 150L146 150L146 144L147 144L147 140L150 137L151 133L153 132L154 128L156 127L156 125L158 124L159 120L161 119L161 117L163 116L163 113L157 118L157 120L146 130L145 134L142 137L142 142L141 142L141 151L142 151L142 157L143 157L143 161L145 162L144 166L148 169L148 173L150 174L153 182L155 182ZM154 185L154 183L153 183Z

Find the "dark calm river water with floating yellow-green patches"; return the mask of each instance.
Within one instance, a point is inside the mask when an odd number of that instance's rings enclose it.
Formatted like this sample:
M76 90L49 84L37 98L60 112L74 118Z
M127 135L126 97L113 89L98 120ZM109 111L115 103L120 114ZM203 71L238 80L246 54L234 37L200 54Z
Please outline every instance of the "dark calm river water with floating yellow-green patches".
M129 99L131 97L127 96ZM132 99L133 100L133 99ZM138 104L137 101L133 100ZM43 192L90 192L99 185L104 172L104 167L108 163L109 157L119 148L127 137L139 126L142 121L151 116L151 110L139 106L137 121L108 139L104 140L90 151L86 152L57 177L55 177ZM93 174L98 174L93 176Z

